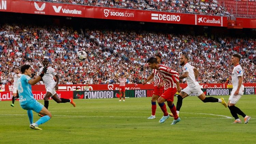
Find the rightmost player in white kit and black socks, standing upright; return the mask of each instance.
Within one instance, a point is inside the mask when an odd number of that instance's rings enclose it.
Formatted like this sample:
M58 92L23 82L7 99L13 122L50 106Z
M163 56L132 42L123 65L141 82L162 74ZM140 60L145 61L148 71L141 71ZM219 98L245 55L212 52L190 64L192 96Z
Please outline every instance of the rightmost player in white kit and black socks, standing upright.
M244 114L238 107L235 106L238 100L244 94L243 69L239 64L240 60L241 56L239 54L233 54L231 57L231 64L234 66L232 71L233 89L228 99L228 108L232 116L235 118L235 121L233 122L234 124L242 123L237 114L242 115L244 117L244 123L247 124L251 117Z

